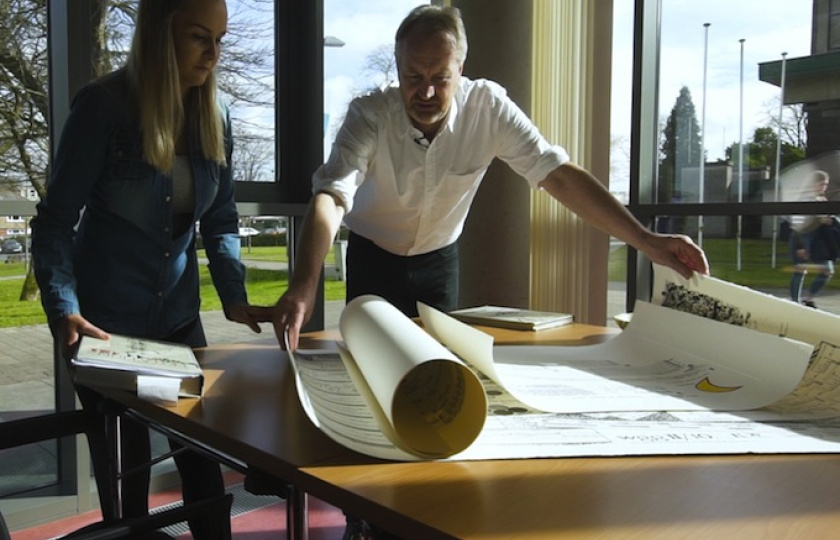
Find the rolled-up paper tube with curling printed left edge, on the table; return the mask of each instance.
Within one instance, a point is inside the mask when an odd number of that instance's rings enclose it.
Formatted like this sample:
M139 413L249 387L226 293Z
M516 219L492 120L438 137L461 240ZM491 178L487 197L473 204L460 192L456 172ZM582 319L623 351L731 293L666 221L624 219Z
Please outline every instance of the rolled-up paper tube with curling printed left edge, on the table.
M340 329L341 354L295 353L302 399L328 434L370 445L362 451L380 457L392 448L445 457L475 440L487 401L477 376L454 354L378 297L351 301ZM332 386L319 386L326 372Z

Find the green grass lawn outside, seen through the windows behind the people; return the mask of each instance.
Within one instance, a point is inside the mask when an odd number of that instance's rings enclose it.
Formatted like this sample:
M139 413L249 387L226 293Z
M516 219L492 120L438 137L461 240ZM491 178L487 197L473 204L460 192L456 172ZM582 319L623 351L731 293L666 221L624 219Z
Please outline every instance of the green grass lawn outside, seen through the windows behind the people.
M786 243L779 243L776 252L776 268L772 267L772 245L768 240L744 240L741 244L741 270L736 267L736 244L734 240L706 240L703 248L709 259L712 275L720 279L760 290L786 290L790 281L791 265ZM203 256L203 253L199 253ZM329 256L334 262L334 253ZM610 255L609 279L623 281L626 275L626 248L615 250ZM252 247L242 250L244 260L286 261L285 247ZM22 276L26 273L24 263L0 264L0 278ZM246 288L252 304L273 305L288 288L288 273L285 270L248 270ZM21 302L20 292L23 278L0 279L0 328L42 324L46 322L39 302ZM840 280L832 280L831 290L840 289ZM328 280L325 296L327 300L344 298L344 282ZM206 266L201 268L202 310L221 309L219 297L210 280Z

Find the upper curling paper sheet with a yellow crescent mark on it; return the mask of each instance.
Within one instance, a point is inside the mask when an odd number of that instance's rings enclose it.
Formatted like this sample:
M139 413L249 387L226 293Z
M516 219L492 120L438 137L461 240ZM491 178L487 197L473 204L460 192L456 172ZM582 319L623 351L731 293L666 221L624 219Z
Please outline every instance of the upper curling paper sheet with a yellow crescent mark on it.
M755 409L793 391L812 351L644 302L624 332L586 347L492 347L437 310L423 315L441 342L545 412Z

